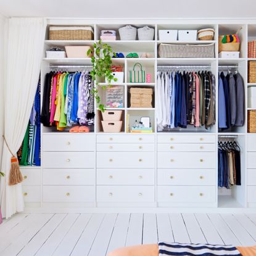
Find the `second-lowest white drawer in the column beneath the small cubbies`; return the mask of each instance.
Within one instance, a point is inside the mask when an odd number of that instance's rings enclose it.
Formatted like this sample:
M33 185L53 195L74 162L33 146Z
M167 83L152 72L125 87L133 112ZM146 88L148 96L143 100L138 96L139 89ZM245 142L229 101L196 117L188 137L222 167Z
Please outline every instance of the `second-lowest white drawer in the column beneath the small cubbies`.
M154 185L154 169L97 169L98 185Z

